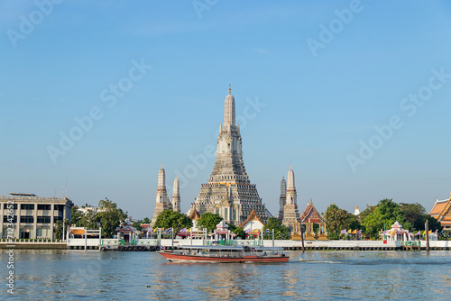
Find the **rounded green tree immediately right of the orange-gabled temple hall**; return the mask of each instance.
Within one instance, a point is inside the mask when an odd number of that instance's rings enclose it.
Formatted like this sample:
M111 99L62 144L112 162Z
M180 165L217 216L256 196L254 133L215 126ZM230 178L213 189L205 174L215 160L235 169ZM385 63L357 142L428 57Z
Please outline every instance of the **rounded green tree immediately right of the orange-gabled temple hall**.
M327 235L331 240L337 240L342 230L360 228L360 223L354 214L348 213L345 209L340 209L335 204L327 206L324 221L326 222Z

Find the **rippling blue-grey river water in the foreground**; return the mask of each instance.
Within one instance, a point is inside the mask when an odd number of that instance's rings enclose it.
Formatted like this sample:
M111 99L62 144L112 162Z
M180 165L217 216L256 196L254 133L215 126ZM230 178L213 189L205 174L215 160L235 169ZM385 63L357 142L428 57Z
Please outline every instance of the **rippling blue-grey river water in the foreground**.
M170 263L156 252L0 253L0 298L361 300L451 298L451 251L287 251L289 263Z

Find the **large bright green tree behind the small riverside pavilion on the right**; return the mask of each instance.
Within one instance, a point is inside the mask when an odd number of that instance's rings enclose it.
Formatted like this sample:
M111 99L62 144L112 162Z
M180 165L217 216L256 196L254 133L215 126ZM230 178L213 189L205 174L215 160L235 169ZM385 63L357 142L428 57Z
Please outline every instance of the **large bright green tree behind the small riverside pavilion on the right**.
M374 207L373 213L364 217L362 224L365 233L375 240L380 238L379 231L390 228L396 221L402 224L404 229L410 229L410 222L405 220L400 205L392 199L384 198Z

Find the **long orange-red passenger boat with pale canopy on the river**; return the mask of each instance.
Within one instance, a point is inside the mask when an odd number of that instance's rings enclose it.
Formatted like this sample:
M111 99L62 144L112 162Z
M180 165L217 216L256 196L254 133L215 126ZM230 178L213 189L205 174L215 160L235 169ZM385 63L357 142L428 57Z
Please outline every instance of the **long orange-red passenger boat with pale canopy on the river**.
M183 246L176 251L160 251L167 260L175 262L288 262L282 248L240 246Z

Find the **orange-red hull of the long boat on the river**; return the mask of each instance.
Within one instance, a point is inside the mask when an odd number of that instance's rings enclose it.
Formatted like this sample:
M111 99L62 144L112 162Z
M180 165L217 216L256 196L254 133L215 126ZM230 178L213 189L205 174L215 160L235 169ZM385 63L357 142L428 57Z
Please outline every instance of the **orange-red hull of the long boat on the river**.
M218 263L273 263L273 262L288 262L288 256L271 256L271 257L211 257L202 255L185 255L173 252L159 252L165 259L174 262L218 262Z

